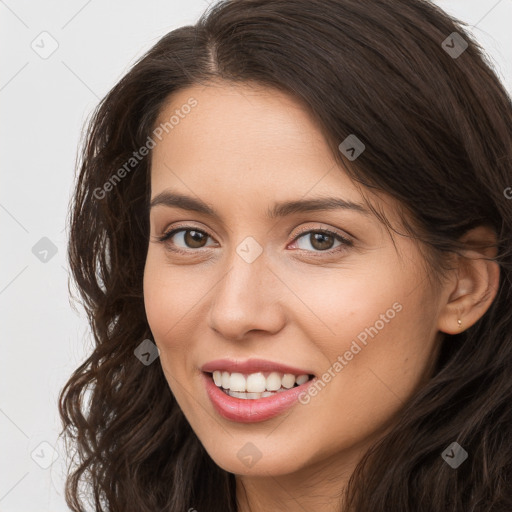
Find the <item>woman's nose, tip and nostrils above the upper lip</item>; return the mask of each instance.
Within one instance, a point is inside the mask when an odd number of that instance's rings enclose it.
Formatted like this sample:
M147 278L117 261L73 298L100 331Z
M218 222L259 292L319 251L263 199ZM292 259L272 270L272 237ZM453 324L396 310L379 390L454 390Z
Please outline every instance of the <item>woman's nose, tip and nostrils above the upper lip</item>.
M278 333L286 321L284 288L264 253L251 263L234 253L229 270L214 288L210 328L232 341L242 341L252 331Z

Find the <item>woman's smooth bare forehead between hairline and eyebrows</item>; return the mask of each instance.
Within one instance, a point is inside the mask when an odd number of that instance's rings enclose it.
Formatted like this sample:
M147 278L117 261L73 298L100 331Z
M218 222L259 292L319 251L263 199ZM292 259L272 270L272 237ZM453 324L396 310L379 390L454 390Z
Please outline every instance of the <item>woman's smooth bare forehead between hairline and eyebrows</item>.
M167 187L210 193L220 187L246 196L297 198L335 189L347 199L360 197L320 128L281 91L190 87L169 98L155 127L161 140L153 149L152 196Z

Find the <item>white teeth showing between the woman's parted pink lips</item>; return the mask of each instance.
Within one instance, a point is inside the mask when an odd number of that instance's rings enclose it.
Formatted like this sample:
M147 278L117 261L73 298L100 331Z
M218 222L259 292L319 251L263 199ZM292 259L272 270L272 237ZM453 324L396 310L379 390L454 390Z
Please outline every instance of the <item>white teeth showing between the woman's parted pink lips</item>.
M226 395L243 400L257 400L283 393L315 377L311 374L294 375L281 372L244 374L216 370L204 373Z

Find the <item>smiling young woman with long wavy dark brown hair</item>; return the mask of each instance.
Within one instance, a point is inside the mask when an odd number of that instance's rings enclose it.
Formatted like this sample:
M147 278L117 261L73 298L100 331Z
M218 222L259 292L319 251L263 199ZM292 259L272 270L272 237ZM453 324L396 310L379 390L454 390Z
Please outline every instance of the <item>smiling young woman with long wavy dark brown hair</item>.
M123 512L512 510L511 113L425 0L232 0L162 38L72 205L72 510L82 479Z

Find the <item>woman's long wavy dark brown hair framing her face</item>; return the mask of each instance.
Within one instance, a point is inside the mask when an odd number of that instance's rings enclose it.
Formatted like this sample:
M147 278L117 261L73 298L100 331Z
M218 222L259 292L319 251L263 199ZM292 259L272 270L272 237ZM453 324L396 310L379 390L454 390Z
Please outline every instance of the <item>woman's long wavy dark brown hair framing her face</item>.
M237 510L234 475L208 456L160 364L134 356L152 337L142 288L151 154L126 162L173 92L212 80L300 101L353 179L398 199L410 235L435 254L494 228L495 300L445 337L432 378L361 461L346 504L512 510L512 105L463 25L426 0L222 1L163 37L101 101L71 205L70 267L95 339L60 395L73 511L85 510L84 492L97 511ZM353 162L338 149L349 134L366 146ZM457 469L441 458L454 441L469 455Z

